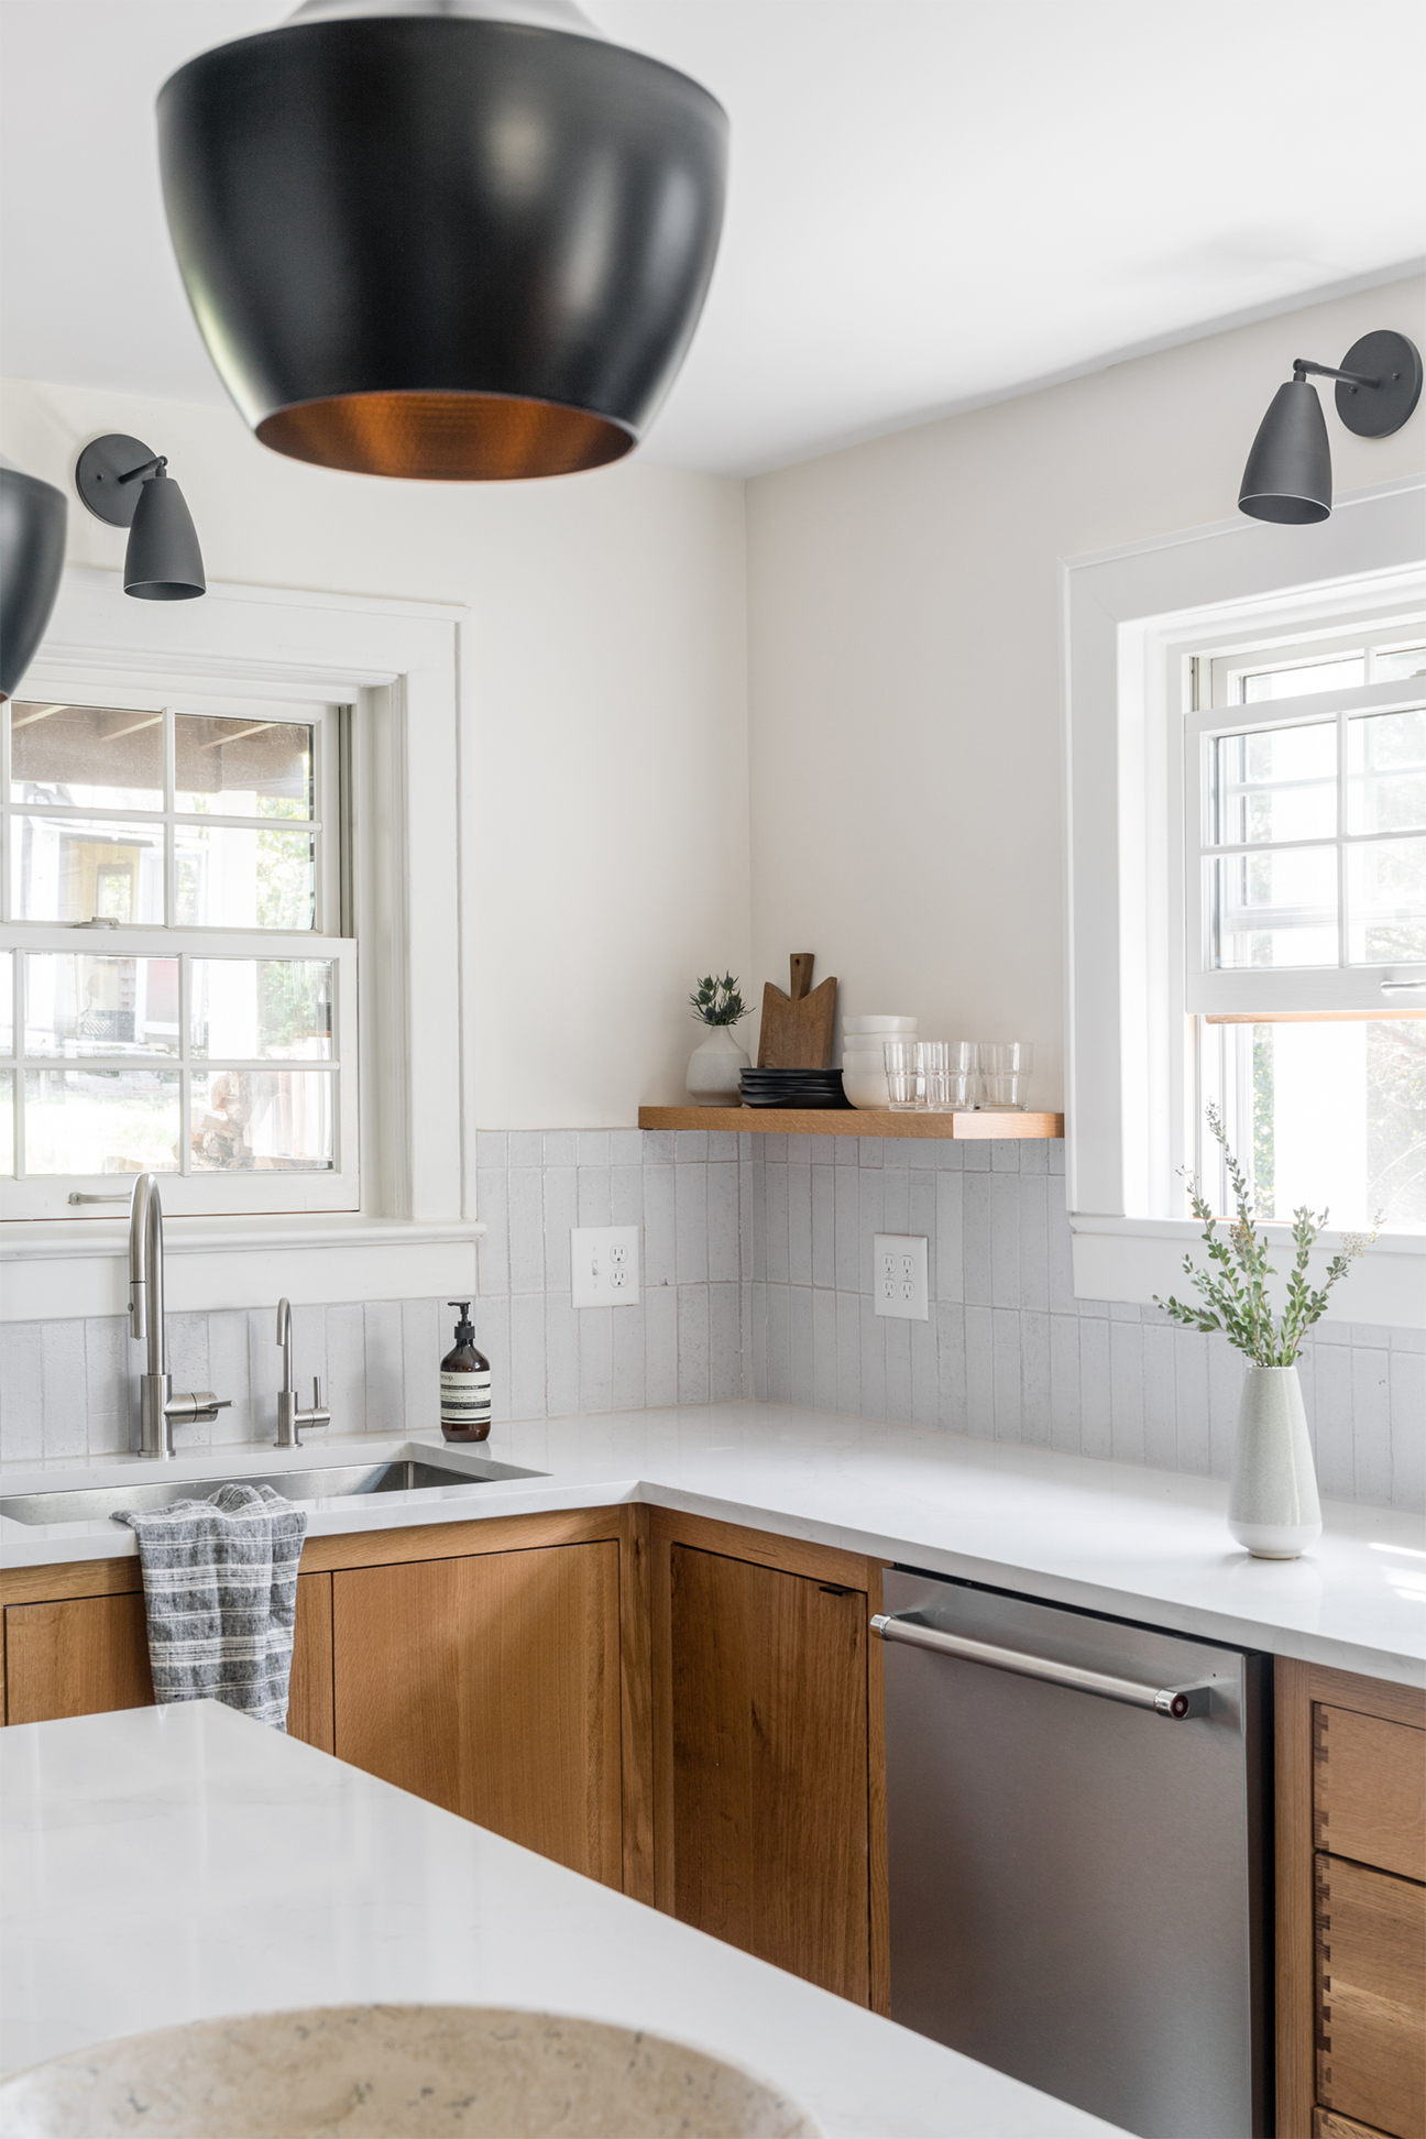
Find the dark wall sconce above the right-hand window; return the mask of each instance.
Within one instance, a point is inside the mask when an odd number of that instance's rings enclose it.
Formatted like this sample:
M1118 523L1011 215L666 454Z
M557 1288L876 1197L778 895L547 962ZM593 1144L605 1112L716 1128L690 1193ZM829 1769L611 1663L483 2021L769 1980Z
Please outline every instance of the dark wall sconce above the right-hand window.
M1390 438L1422 398L1422 353L1390 327L1353 342L1340 370L1293 357L1291 379L1272 396L1242 471L1238 511L1253 520L1308 526L1332 511L1328 424L1308 372L1336 379L1336 413L1358 438Z

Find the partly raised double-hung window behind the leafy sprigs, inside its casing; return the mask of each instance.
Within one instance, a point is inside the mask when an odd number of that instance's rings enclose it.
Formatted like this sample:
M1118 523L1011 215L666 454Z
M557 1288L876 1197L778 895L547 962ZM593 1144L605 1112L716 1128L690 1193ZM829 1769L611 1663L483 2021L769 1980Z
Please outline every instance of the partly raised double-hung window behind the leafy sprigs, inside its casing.
M1426 618L1214 648L1184 732L1187 1149L1257 1215L1426 1232Z

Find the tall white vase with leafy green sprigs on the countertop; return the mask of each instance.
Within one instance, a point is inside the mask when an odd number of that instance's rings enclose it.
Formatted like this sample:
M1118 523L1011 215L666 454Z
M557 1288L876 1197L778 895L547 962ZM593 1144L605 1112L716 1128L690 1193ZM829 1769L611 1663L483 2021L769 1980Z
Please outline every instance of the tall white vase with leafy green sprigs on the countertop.
M1197 1181L1193 1174L1187 1176L1189 1202L1193 1215L1204 1221L1204 1241L1208 1243L1210 1268L1199 1271L1193 1266L1193 1258L1184 1256L1184 1273L1193 1279L1202 1305L1189 1305L1172 1294L1167 1301L1154 1294L1154 1305L1189 1328L1223 1330L1227 1341L1249 1360L1238 1405L1227 1527L1255 1559L1296 1559L1304 1544L1321 1536L1321 1502L1317 1499L1317 1469L1302 1410L1298 1354L1313 1322L1326 1313L1332 1286L1347 1275L1351 1262L1377 1234L1345 1234L1321 1286L1313 1288L1306 1279L1306 1264L1317 1234L1328 1224L1328 1213L1313 1215L1306 1204L1300 1204L1291 1215L1296 1258L1287 1279L1287 1303L1283 1313L1274 1315L1268 1279L1276 1277L1276 1271L1268 1262L1268 1241L1257 1236L1253 1194L1227 1147L1216 1106L1208 1108L1208 1127L1223 1151L1238 1217L1229 1226L1227 1241L1221 1241L1216 1219Z

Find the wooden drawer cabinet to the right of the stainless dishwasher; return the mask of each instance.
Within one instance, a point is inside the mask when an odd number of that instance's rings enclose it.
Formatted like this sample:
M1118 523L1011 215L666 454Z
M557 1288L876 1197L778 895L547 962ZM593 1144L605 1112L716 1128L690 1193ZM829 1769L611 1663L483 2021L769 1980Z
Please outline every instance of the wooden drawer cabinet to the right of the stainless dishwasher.
M1426 1696L1274 1677L1278 2139L1426 2139Z

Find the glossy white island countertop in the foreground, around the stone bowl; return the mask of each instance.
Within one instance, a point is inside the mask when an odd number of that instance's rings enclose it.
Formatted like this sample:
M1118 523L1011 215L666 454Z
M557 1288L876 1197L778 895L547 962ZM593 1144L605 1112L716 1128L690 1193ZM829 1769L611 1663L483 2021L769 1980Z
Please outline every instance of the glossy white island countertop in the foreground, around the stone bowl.
M0 2066L188 2019L492 2004L691 2043L825 2139L1095 2139L992 2073L214 1701L0 1730Z

